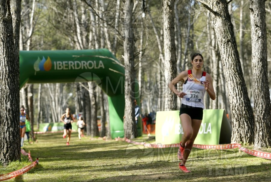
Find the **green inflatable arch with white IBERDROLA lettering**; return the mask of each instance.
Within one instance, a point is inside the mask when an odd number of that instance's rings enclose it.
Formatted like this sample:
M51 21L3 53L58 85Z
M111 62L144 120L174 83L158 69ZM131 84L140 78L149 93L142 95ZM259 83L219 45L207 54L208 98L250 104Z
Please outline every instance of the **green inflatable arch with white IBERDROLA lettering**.
M124 73L107 49L20 51L20 88L26 83L96 82L108 95L112 139L124 137ZM136 98L138 89L136 82ZM139 136L141 125L139 120Z

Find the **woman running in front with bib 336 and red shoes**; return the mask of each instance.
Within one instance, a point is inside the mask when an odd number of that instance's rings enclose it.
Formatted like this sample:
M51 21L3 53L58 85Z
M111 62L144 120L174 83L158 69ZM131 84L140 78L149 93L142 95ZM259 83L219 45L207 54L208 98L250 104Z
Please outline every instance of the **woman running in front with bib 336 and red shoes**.
M182 71L168 85L174 94L182 98L179 116L183 135L178 151L178 159L181 160L179 169L185 173L191 172L185 167L185 162L201 126L205 92L208 93L212 100L216 99L212 77L202 71L203 56L200 53L195 53L191 56L191 64L191 70ZM183 91L178 91L175 87L179 82L184 83Z

